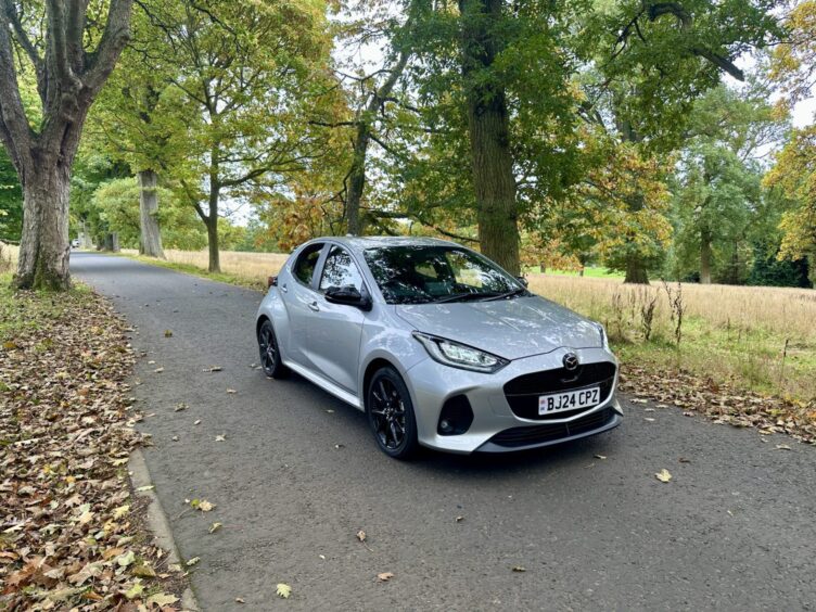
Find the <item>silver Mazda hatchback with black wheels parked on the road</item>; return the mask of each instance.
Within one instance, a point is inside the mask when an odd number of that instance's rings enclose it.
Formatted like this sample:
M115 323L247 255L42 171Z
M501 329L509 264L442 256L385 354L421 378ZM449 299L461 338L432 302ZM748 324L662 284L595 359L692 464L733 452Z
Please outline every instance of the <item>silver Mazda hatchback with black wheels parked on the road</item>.
M322 238L269 285L264 372L294 371L365 410L391 457L536 448L621 423L603 327L458 244Z

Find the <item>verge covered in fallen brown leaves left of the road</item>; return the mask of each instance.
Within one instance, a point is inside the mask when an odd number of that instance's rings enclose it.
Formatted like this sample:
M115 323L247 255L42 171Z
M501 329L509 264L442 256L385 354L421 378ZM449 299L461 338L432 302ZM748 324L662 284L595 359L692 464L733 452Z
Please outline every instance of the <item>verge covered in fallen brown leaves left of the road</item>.
M0 275L0 609L173 610L181 569L151 544L127 474L141 438L125 323L84 285L10 281Z

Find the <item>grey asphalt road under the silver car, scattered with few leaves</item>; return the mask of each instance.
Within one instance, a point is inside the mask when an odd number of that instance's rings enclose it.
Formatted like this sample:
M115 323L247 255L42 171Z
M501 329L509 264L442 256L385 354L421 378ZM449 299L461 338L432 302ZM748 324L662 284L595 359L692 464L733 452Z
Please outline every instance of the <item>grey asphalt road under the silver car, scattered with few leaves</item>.
M253 368L258 293L120 257L73 254L72 270L146 352L144 455L181 556L201 558L204 610L816 608L814 447L626 403L589 441L403 463L362 413Z

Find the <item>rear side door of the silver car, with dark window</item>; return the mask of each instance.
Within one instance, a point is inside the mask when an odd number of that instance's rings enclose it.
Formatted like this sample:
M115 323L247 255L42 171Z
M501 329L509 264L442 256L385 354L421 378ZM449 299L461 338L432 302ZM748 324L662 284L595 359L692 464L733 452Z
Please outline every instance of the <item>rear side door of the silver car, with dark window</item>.
M292 264L288 278L279 280L283 305L289 315L289 337L283 354L286 359L308 369L315 369L308 346L308 329L320 309L318 306L320 296L315 290L317 283L315 272L324 247L323 242L304 247Z

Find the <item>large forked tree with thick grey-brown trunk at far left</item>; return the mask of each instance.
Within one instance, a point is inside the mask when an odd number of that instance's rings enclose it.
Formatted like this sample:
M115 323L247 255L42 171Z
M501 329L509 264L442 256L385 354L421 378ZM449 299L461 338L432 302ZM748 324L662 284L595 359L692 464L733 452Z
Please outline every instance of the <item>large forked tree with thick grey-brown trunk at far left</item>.
M88 110L127 42L131 2L111 0L105 18L82 1L2 0L0 141L17 170L24 201L18 288L69 285L71 169ZM91 41L98 43L90 47ZM21 68L16 50L26 60ZM20 79L31 74L40 116L27 114L21 97Z

